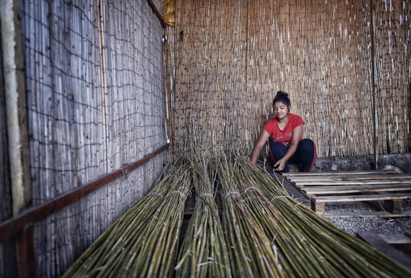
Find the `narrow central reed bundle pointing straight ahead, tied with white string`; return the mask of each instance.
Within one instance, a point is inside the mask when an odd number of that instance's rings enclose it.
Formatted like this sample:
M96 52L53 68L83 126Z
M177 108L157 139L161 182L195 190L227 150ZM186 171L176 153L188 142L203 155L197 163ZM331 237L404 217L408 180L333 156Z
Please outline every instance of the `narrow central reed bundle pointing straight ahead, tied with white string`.
M178 255L176 277L231 277L227 245L214 201L215 176L208 171L207 156L198 150L192 148L192 156L187 156L196 205Z

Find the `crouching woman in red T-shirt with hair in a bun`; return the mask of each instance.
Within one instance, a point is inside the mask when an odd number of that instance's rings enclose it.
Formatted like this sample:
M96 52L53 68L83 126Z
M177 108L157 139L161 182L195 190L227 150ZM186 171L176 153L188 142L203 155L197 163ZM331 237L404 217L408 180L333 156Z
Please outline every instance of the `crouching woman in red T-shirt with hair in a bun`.
M270 155L274 170L288 172L288 163L302 164L302 172L310 172L316 159L315 144L303 139L303 119L290 113L291 102L288 94L278 91L273 100L274 117L265 125L251 152L251 162L256 164L261 148L271 136Z

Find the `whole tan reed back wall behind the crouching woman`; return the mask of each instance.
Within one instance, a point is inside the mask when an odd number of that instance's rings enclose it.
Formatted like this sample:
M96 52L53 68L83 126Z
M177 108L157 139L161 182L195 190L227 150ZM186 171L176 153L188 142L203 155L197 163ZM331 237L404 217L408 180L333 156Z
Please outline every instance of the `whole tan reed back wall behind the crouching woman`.
M380 153L411 151L410 1L376 1ZM177 1L164 48L174 156L187 138L250 147L277 90L320 157L373 153L371 9L363 1Z

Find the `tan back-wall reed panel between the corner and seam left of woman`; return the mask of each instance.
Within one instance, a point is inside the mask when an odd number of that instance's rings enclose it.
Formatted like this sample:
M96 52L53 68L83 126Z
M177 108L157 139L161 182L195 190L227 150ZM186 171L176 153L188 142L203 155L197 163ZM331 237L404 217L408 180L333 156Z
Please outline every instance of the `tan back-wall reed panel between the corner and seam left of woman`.
M200 144L237 144L244 123L241 106L244 88L245 1L192 1L176 3L174 33L174 98L170 138L173 152L180 152L187 138ZM174 63L174 64L172 64ZM237 95L238 96L237 96ZM235 107L235 109L230 109ZM232 140L227 134L233 132ZM222 142L225 142L222 144Z

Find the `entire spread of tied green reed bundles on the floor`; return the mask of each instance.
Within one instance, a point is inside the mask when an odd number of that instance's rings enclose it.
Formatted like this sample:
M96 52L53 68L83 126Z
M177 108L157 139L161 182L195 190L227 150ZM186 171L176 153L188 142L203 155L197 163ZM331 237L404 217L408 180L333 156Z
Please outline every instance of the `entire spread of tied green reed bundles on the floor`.
M169 167L151 193L100 236L65 276L411 275L298 203L244 155L211 156L200 148L192 148L191 154L179 167ZM192 185L196 206L179 247L184 202ZM215 202L218 190L222 224Z

